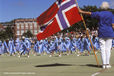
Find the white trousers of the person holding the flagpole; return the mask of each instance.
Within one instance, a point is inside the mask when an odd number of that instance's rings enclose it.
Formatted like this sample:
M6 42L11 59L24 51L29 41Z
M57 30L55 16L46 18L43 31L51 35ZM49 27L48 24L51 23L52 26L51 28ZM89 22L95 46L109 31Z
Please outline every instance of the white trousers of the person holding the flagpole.
M112 39L111 38L100 38L99 42L100 42L102 63L110 64Z

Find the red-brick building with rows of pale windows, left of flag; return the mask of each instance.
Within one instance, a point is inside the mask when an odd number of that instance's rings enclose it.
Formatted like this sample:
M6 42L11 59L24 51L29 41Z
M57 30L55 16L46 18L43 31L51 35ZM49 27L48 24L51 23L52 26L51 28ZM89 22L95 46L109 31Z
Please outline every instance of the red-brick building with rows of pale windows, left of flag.
M28 30L36 36L39 30L36 19L15 19L14 20L15 36L21 37Z

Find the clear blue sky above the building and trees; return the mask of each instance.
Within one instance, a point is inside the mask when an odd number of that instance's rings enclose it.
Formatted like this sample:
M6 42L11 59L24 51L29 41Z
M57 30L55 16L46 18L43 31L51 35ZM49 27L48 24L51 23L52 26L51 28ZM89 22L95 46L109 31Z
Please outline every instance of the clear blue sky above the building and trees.
M11 21L16 18L36 18L48 9L56 0L0 0L0 22ZM80 7L83 5L96 5L99 7L103 1L111 3L114 0L77 0Z

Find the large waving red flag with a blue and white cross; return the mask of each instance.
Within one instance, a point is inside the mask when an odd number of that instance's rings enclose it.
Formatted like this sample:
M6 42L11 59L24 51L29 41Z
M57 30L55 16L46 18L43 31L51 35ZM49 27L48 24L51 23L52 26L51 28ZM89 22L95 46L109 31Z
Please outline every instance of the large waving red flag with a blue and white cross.
M82 20L75 0L57 0L52 6L53 7L50 8L50 13L48 11L49 9L46 11L50 16L46 15L47 13L44 12L41 15L42 20L40 20L41 16L37 18L38 23L43 25L43 32L37 34L38 40L45 39ZM51 11L54 12L52 13Z

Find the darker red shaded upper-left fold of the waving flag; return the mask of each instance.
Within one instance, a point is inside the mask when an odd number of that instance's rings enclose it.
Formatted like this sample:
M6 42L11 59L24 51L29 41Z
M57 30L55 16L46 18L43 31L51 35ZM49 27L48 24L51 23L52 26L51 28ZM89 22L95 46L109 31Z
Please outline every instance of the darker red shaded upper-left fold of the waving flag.
M37 22L40 26L46 25L48 22L50 22L51 19L54 18L54 16L57 14L59 10L59 1L57 0L54 4L52 4L52 6L49 9L47 9L37 18Z

